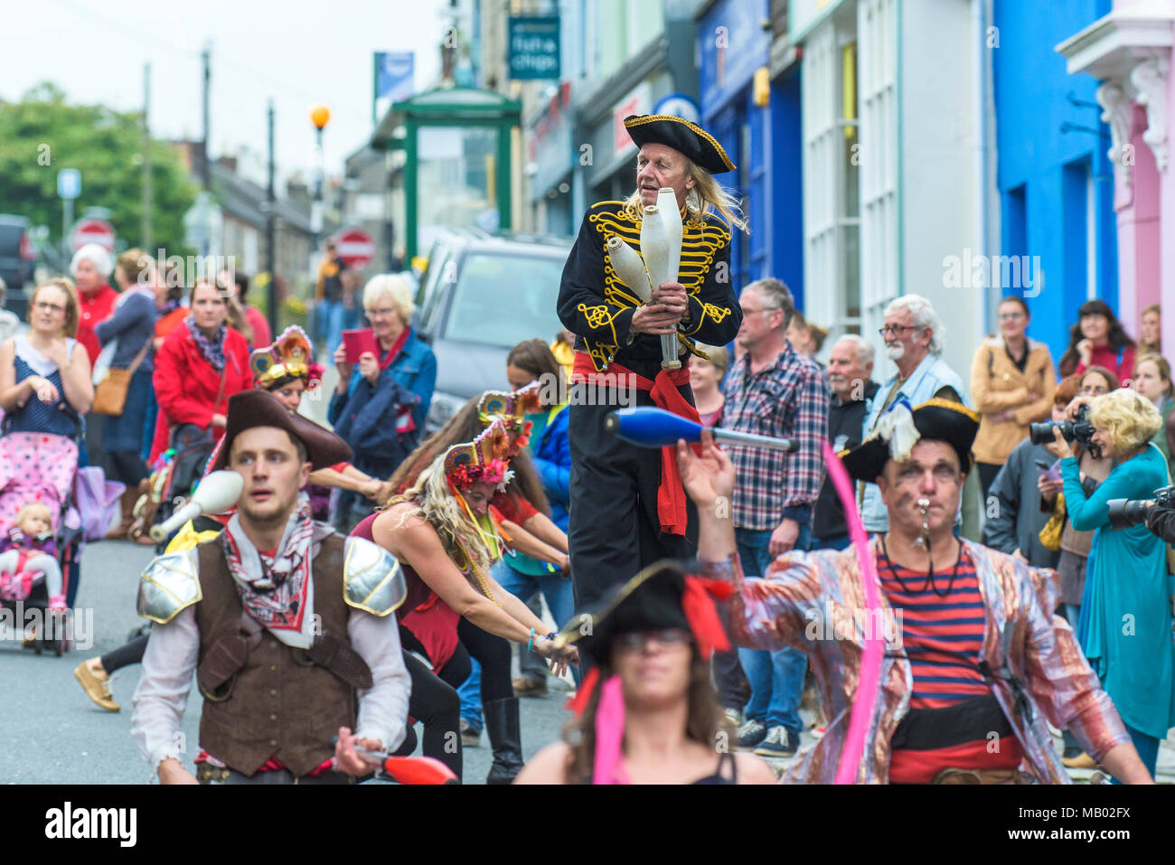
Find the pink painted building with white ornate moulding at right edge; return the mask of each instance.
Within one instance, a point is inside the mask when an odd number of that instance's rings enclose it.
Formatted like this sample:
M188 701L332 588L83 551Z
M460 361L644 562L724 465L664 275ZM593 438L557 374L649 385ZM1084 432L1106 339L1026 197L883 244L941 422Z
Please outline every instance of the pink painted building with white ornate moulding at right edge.
M1093 75L1110 128L1117 215L1119 317L1139 334L1142 310L1163 309L1163 354L1175 357L1175 168L1167 123L1175 0L1115 0L1113 11L1056 46L1072 75Z

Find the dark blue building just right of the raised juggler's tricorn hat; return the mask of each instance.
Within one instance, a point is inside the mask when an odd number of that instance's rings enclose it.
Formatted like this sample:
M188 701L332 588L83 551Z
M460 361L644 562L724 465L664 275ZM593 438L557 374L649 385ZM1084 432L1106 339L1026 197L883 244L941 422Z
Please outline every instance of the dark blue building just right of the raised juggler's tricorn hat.
M750 234L731 249L734 288L783 280L804 309L800 80L768 81L768 0L718 0L698 19L701 125L738 166L718 175L743 200ZM756 76L760 102L756 102ZM763 100L763 96L766 100Z

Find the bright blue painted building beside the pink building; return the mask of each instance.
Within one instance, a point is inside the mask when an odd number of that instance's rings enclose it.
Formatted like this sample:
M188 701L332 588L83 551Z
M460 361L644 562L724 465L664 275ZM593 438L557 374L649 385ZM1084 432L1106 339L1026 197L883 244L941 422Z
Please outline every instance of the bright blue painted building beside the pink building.
M987 34L999 148L1000 252L1028 256L1045 275L1043 284L1033 273L1035 284L1002 286L993 295L1026 299L1033 313L1028 333L1048 343L1054 362L1068 347L1069 328L1086 300L1101 297L1117 309L1114 173L1106 153L1109 129L1094 98L1097 81L1068 75L1065 59L1054 51L1108 13L1110 5L995 0L995 28Z

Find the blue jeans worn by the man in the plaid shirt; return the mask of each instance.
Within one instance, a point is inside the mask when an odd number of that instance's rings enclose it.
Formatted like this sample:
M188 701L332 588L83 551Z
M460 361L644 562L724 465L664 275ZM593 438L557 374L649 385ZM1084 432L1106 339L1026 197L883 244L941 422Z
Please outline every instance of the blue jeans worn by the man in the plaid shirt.
M771 530L736 529L734 541L743 570L748 576L761 576L773 561L767 551ZM811 541L808 527L800 527L795 549L806 550ZM807 658L792 649L764 651L739 646L738 659L751 684L751 699L743 710L747 720L761 720L768 729L783 726L795 736L804 727L800 720L800 697L804 696L804 669Z

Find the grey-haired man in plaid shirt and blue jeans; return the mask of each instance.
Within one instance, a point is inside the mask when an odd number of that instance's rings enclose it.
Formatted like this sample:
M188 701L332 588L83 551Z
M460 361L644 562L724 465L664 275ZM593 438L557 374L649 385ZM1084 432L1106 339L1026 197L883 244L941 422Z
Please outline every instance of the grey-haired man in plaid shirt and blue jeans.
M721 425L744 432L795 438L794 454L728 445L738 481L731 517L739 556L756 574L790 550L806 550L812 508L824 482L820 441L828 425L828 383L820 367L785 337L795 311L779 280L752 282L739 297L743 324L736 341L746 349L726 376ZM765 757L795 753L803 726L804 655L795 649L739 649L751 684L739 745Z

